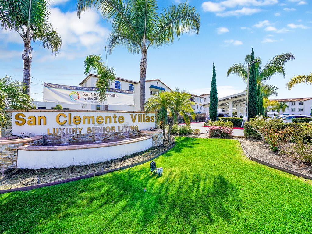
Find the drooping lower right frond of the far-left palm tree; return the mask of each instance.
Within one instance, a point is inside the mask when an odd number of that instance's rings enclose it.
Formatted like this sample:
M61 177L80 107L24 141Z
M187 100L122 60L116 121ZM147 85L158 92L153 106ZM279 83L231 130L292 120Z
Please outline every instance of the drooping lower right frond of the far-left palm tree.
M32 41L41 41L43 48L51 48L52 53L55 55L61 49L62 39L55 29L52 29L51 25L41 25L36 27L31 33Z

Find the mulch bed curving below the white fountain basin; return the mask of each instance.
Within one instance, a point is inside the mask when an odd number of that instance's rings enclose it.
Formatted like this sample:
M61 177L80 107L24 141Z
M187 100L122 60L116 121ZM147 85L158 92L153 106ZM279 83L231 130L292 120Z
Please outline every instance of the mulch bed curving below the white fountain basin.
M38 178L39 183L48 183L141 162L163 152L172 144L173 142L169 143L168 141L164 141L162 146L153 147L143 152L126 155L122 158L106 161L104 163L70 166L67 168L43 168L38 170L20 168L7 169L3 177L1 171L0 190L36 185L38 184Z

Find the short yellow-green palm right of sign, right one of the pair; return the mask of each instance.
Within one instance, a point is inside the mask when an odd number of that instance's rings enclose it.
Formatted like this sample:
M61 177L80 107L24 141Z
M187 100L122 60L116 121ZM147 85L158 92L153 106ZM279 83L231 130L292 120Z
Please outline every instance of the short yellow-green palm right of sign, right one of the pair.
M180 91L176 88L173 92L170 93L170 101L169 101L169 116L171 117L169 128L168 128L168 140L170 139L170 132L174 123L177 122L178 115L182 115L184 119L184 123L189 124L191 115L192 119L195 119L195 113L193 112L193 108L191 104L193 102L190 100L191 95L185 90Z

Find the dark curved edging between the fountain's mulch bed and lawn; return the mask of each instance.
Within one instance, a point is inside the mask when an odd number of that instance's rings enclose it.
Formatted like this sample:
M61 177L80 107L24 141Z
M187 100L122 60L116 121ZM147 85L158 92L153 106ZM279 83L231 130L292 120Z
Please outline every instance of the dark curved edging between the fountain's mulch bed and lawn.
M72 178L68 178L68 179L64 179L64 180L52 181L52 182L48 182L48 183L36 184L36 185L31 185L31 186L26 186L26 187L3 189L3 190L0 190L0 194L16 192L16 191L27 191L27 190L31 190L31 189L34 189L34 188L47 187L47 186L51 186L51 185L56 185L56 184L76 181L76 180L85 179L85 178L90 178L90 177L93 177L93 176L103 175L103 174L106 174L106 173L109 173L109 172L113 172L113 171L118 171L118 170L121 170L121 169L134 167L134 166L137 166L137 165L149 162L149 161L159 157L160 155L166 153L169 149L172 149L174 145L175 145L175 141L173 141L173 144L168 149L165 149L161 153L159 153L159 154L157 154L157 155L155 155L155 156L153 156L151 158L148 158L148 159L145 159L143 161L137 162L137 163L132 163L132 164L125 165L125 166L122 166L122 167L118 167L118 168L112 168L112 169L105 170L105 171L89 173L89 174L86 174L86 175L72 177Z

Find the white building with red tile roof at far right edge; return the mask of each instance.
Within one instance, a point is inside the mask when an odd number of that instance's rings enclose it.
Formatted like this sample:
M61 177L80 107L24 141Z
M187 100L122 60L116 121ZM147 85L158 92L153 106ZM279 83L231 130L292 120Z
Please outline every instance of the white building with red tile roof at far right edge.
M289 99L270 99L269 101L285 102L288 105L283 115L311 115L312 97L309 98L289 98ZM274 110L271 106L267 107L268 116L282 115L282 111Z

